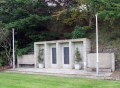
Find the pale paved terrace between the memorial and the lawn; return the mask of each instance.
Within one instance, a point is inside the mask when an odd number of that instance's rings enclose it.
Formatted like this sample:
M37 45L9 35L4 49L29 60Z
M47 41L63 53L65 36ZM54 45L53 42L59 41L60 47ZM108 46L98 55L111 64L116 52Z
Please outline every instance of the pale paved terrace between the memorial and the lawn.
M19 73L29 73L29 74L47 74L47 75L56 75L56 76L77 76L77 77L88 77L88 78L97 78L97 79L112 79L110 72L88 72L84 70L75 70L75 69L52 69L52 68L15 68L6 70L5 72L19 72Z

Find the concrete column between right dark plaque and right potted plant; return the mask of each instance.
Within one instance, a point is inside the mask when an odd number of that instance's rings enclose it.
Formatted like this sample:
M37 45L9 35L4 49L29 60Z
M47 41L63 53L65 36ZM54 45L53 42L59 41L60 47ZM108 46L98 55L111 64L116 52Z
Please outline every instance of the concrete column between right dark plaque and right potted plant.
M70 69L74 68L74 44L70 41L69 42L69 60L70 60Z

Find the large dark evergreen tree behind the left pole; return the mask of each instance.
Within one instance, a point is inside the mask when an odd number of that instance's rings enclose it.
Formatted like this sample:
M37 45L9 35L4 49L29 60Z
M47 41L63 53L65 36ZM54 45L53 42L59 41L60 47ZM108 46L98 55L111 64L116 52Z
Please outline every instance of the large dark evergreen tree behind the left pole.
M51 38L46 37L46 23L50 19L49 7L44 0L2 0L0 3L0 20L4 28L15 28L20 55L33 49L33 42Z

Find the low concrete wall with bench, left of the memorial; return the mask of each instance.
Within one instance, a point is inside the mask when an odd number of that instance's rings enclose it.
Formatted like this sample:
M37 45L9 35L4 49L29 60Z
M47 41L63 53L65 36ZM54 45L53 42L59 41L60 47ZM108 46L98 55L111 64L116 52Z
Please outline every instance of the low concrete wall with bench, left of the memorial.
M17 66L20 67L22 65L24 66L35 65L34 54L17 56Z

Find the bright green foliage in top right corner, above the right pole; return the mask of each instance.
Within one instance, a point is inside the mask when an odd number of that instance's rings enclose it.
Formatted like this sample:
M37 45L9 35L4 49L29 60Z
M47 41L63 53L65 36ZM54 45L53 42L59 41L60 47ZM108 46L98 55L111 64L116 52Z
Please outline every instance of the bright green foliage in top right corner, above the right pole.
M115 3L114 1L106 1L102 0L99 3L96 3L96 6L100 5L96 8L97 13L99 13L99 17L104 21L110 21L111 25L120 18L120 1ZM101 8L102 7L102 8ZM101 8L101 9L100 9Z

